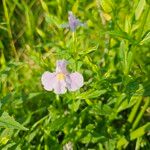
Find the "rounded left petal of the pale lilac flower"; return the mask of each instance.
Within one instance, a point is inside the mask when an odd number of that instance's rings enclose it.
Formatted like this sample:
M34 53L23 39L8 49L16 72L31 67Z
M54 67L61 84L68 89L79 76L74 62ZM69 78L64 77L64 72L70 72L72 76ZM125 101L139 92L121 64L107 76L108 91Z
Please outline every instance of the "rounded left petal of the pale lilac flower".
M54 88L56 81L56 73L44 72L41 78L44 89L51 91Z

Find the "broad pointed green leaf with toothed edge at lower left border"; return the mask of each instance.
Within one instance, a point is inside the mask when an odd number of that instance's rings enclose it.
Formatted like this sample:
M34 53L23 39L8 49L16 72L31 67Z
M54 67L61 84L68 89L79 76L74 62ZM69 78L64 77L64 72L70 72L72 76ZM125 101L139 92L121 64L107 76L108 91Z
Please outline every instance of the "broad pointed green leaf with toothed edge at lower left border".
M18 130L28 130L23 125L15 121L13 117L10 117L7 112L4 112L0 117L0 127L18 129Z

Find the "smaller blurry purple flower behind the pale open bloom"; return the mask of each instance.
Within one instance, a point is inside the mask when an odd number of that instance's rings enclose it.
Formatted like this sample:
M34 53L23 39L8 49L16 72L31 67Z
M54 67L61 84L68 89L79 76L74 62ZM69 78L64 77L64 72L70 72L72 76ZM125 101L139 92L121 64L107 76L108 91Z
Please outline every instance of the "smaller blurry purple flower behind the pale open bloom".
M63 24L61 27L70 28L72 32L75 32L78 26L84 26L84 23L81 23L79 19L77 19L72 11L68 12L68 24Z

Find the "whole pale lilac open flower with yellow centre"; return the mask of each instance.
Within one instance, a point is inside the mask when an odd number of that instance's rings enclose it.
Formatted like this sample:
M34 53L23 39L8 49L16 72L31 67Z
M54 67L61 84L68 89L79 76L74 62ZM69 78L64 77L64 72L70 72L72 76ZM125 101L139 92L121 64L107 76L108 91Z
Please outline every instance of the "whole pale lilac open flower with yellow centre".
M54 90L56 94L64 94L67 89L76 91L83 86L84 79L82 74L79 72L69 73L66 66L66 60L58 60L55 72L46 71L43 73L41 81L45 90Z

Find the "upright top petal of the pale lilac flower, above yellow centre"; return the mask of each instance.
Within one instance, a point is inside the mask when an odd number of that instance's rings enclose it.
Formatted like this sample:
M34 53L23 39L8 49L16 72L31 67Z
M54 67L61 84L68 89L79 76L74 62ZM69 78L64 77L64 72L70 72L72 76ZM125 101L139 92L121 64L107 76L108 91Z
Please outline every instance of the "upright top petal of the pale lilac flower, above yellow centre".
M66 60L58 60L56 63L56 72L57 73L61 72L61 73L66 74L67 73L66 66L67 66Z

